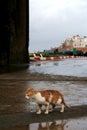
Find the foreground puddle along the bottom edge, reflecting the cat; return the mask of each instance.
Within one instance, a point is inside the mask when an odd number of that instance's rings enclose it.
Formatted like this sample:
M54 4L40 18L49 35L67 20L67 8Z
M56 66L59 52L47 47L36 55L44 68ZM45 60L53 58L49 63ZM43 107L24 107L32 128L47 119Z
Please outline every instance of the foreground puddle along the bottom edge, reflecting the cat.
M0 130L87 130L87 118L33 123L27 126L3 128Z

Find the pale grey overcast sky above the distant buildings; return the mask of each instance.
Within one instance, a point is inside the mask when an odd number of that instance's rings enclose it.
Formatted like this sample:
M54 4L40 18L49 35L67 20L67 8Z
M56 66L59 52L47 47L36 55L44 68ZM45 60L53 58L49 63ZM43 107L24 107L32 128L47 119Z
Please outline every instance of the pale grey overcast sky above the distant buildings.
M30 0L29 51L59 46L74 35L87 36L87 0Z

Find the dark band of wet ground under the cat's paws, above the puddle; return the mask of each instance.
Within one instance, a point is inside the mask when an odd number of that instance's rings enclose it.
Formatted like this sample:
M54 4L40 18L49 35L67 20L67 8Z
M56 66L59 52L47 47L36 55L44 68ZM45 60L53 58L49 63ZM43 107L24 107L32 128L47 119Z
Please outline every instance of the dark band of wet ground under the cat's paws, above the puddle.
M32 123L79 119L81 117L87 117L87 105L73 107L73 110L66 109L64 113L60 113L58 109L55 109L54 112L48 115L45 115L44 113L41 115L36 115L35 112L5 114L0 115L0 130L2 130L2 128L14 128L15 126L28 126Z

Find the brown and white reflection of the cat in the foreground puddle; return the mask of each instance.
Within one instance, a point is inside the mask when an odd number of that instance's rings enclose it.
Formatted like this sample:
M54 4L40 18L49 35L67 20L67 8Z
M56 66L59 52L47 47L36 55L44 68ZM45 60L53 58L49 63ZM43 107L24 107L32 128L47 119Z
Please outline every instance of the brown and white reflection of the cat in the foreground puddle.
M43 126L42 123L38 125L37 130L64 130L64 126L67 123L67 121L61 121L60 124L57 124L56 121L52 122L51 124L49 122L46 122L46 126Z

